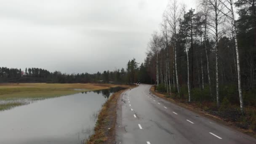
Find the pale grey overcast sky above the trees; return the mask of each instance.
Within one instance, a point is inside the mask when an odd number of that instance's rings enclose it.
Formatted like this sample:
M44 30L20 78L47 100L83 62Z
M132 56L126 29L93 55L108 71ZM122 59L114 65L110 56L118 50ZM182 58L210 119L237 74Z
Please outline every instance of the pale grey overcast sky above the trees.
M180 1L180 0L179 0ZM195 0L183 0L189 7ZM0 67L66 73L143 62L168 0L0 0Z

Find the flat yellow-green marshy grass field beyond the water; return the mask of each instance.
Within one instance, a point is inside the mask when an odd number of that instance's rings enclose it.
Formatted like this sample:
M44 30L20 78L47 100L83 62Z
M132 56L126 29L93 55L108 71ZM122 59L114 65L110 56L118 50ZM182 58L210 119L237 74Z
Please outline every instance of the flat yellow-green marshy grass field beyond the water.
M120 85L74 83L1 83L0 84L0 110L27 104L27 101L65 96L82 91L94 91L117 87ZM128 87L128 85L122 85ZM24 101L25 99L25 101Z

